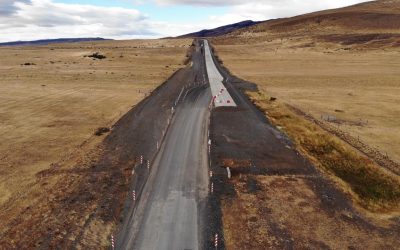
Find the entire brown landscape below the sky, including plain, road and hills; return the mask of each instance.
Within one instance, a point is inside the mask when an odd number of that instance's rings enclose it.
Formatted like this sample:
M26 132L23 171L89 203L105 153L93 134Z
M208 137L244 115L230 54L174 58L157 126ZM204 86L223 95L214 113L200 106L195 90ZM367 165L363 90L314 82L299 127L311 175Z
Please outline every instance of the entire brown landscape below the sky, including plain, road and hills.
M399 4L0 48L0 248L397 249Z

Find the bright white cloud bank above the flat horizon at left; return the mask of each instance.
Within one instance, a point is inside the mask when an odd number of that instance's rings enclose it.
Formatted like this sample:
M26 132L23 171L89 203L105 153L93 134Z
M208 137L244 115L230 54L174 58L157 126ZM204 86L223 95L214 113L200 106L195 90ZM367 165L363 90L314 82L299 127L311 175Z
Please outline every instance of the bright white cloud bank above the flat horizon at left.
M149 18L135 9L61 4L51 0L2 1L0 4L2 9L7 7L7 13L0 14L0 41L162 36Z

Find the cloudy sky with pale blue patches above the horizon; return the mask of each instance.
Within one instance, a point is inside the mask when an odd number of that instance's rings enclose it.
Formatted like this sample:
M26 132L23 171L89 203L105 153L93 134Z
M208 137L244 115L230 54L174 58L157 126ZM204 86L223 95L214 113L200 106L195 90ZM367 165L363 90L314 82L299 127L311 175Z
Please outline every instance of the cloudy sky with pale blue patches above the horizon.
M365 0L0 0L0 42L159 38L360 2Z

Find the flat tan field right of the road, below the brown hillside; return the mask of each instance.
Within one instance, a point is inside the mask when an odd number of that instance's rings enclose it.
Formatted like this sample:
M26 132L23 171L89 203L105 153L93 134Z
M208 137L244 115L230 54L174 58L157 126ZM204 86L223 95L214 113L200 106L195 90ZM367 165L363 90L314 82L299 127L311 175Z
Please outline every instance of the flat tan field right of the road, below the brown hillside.
M335 51L271 42L217 45L233 74L400 162L400 49Z

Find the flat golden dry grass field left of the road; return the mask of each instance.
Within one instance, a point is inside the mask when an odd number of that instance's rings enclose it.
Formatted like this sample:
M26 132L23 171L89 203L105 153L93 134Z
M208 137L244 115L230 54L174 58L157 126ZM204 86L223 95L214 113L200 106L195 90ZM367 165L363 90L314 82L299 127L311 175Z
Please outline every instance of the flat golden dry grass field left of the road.
M183 67L191 42L0 48L0 236L63 177L38 184L37 174L73 166L94 149L103 138L96 129L110 127ZM95 52L106 58L88 57Z

